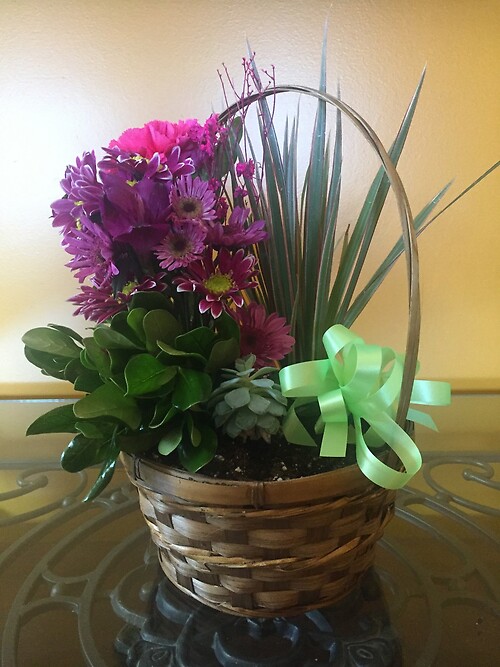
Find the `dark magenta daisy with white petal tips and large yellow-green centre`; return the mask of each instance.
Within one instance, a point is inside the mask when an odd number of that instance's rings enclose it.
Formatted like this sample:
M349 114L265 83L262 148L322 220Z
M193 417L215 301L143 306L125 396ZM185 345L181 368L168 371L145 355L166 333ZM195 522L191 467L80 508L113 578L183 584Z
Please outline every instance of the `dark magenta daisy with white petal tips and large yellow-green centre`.
M231 303L241 308L241 290L256 287L254 266L253 255L245 255L243 250L231 254L222 248L215 260L211 251L206 252L203 259L190 264L184 276L174 282L178 292L204 295L199 304L200 313L210 311L212 317L219 317L224 309L230 310Z

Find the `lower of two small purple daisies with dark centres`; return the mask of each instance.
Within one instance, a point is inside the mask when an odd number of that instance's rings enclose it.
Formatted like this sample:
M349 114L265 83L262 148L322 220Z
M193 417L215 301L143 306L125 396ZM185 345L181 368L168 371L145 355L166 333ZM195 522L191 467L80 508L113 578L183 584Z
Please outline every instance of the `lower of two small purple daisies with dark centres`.
M174 223L156 247L161 268L173 271L199 259L205 249L206 234L197 222Z

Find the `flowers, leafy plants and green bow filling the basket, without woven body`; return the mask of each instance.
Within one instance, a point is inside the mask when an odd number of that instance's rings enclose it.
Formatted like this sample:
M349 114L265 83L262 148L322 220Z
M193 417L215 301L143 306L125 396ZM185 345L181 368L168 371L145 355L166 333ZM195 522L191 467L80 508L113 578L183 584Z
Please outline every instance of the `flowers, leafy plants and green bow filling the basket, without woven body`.
M342 124L338 113L330 157L326 107L346 106L326 94L323 68L300 189L298 122L280 146L268 97L311 91L280 89L272 73L264 84L252 58L244 71L244 91L225 113L203 124L152 121L126 130L101 159L86 152L69 166L64 194L52 204L80 283L70 301L93 325L86 337L54 324L24 335L31 363L83 392L28 434L74 434L62 467L101 466L87 499L109 482L121 451L168 457L195 472L221 441L251 448L253 440L285 439L304 461L355 450L363 472L388 488L420 465L404 422L433 424L408 405L397 415L403 356L365 345L350 330L404 251L402 237L353 296L390 178L381 168L339 244ZM421 83L389 151L394 165ZM252 104L260 152L247 131ZM414 233L446 190L415 217ZM444 383L413 380L407 402L449 400ZM395 466L376 456L384 444L396 452Z

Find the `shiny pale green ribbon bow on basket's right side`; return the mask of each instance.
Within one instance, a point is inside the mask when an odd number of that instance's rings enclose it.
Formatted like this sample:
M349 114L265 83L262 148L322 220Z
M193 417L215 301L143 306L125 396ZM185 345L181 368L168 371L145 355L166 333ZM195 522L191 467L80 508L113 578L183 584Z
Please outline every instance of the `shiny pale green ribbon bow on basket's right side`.
M394 421L401 382L404 355L388 347L367 345L362 338L341 324L323 335L328 358L286 366L280 371L281 391L294 402L283 425L288 442L315 445L298 418L295 408L317 399L321 418L316 430L324 427L321 456L345 456L349 433L349 415L353 416L356 459L361 471L375 484L386 489L400 489L422 465L420 452L410 436ZM411 403L448 405L447 382L415 380ZM436 429L433 419L410 408L407 418ZM361 419L369 424L363 433ZM387 444L399 457L405 470L394 470L380 461L371 449Z

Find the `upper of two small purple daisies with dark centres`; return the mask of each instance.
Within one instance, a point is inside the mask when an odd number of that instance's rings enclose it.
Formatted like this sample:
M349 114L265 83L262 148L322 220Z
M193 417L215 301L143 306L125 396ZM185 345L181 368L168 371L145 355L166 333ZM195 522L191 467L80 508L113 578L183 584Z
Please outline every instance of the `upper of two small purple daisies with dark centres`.
M215 218L215 195L206 181L192 176L182 176L170 194L174 215L179 220L203 220Z

